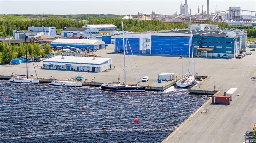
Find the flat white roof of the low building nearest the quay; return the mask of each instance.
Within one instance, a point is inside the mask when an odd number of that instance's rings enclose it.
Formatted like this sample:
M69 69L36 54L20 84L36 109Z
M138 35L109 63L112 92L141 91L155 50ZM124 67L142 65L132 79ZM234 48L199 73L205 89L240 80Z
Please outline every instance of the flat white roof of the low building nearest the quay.
M62 59L62 57L64 57ZM44 62L67 62L67 63L78 63L78 64L102 64L111 58L97 58L97 57L75 57L75 56L55 56L44 60Z

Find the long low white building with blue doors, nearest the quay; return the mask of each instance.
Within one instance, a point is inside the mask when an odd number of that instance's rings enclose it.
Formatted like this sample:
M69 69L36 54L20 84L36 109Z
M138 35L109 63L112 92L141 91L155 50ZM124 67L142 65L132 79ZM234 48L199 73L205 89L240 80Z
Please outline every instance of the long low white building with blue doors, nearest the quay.
M101 72L112 68L112 58L55 56L44 60L43 68Z

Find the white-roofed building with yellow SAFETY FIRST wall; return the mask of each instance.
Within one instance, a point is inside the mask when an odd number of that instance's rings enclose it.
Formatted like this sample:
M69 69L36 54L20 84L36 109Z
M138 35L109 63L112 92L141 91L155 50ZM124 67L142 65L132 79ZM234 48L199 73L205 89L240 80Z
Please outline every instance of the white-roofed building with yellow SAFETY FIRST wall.
M116 26L113 24L102 24L102 25L89 25L85 24L83 28L98 28L99 33L109 33L116 31Z

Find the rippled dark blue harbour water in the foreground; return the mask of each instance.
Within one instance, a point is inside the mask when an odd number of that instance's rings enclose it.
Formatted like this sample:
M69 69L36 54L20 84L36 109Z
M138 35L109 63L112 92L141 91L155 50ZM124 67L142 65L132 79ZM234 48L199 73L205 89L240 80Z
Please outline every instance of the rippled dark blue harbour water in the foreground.
M0 81L0 142L161 142L209 98L188 89L123 94Z

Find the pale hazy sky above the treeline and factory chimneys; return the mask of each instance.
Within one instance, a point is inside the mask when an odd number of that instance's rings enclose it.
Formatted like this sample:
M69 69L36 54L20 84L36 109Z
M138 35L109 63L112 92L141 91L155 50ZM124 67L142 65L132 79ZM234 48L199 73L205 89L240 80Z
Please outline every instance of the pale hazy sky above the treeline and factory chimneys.
M6 1L0 0L0 14L116 14L116 15L135 15L140 13L151 13L172 15L174 12L180 13L180 4L185 0L169 1L123 1L123 0L104 0L104 1L70 1L70 0L19 0ZM241 6L242 10L256 11L256 0L210 0L210 12L217 10L228 10L229 6ZM192 14L197 13L199 6L200 12L204 5L206 11L206 0L188 0L188 8ZM254 15L255 13L252 13ZM243 15L251 15L251 12L243 11Z

